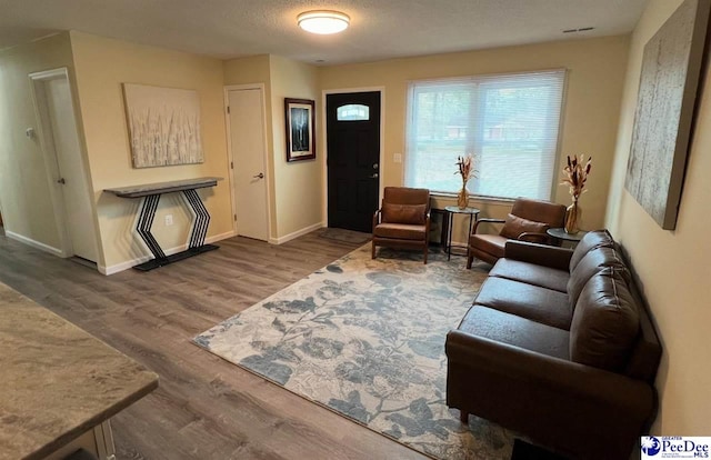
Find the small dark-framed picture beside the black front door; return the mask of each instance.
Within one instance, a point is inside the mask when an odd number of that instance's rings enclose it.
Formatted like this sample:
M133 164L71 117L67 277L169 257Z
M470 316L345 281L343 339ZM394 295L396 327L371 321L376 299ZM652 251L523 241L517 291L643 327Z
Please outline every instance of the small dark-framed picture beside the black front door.
M309 99L284 98L287 117L287 161L316 158L316 103Z

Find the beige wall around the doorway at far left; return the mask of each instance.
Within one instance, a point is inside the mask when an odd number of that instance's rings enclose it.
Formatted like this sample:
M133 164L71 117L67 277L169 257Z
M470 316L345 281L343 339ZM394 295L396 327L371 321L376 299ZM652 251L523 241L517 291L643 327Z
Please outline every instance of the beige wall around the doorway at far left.
M4 228L57 251L61 240L50 189L56 187L54 178L46 168L40 147L28 74L61 67L69 69L73 83L69 33L0 52L0 202ZM73 84L72 91L76 93ZM37 131L34 139L24 136L28 128Z

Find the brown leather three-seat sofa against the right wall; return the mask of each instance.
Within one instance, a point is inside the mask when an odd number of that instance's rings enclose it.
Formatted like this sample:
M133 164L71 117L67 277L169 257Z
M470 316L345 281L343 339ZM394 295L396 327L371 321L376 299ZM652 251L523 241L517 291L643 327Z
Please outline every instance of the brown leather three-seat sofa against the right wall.
M661 346L612 237L509 241L447 337L447 403L555 452L628 459L655 416Z

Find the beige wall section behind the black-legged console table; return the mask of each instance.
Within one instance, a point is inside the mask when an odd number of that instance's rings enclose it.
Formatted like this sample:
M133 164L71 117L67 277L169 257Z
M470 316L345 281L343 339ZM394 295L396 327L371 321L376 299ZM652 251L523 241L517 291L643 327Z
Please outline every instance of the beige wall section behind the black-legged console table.
M103 251L100 266L123 268L149 252L134 232L139 200L104 193L103 189L203 176L226 180L201 189L212 220L208 238L232 231L227 139L223 114L222 61L212 58L128 43L72 31L80 110L97 202ZM131 166L121 83L197 90L200 97L204 163L134 169ZM184 246L190 213L181 196L161 198L153 234L163 249ZM174 224L164 226L172 214Z

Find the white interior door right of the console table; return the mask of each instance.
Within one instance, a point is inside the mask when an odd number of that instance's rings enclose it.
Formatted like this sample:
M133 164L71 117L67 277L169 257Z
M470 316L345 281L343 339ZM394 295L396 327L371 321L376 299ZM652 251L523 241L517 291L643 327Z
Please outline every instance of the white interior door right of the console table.
M237 234L269 239L263 91L228 91Z

